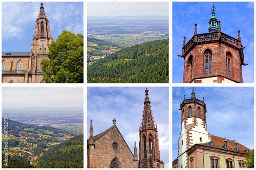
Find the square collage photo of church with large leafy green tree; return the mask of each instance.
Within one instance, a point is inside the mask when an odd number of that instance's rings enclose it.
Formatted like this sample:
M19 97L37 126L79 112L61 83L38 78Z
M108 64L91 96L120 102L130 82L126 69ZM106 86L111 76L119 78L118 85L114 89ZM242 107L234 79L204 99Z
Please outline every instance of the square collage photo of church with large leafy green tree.
M83 83L83 2L2 2L2 83Z

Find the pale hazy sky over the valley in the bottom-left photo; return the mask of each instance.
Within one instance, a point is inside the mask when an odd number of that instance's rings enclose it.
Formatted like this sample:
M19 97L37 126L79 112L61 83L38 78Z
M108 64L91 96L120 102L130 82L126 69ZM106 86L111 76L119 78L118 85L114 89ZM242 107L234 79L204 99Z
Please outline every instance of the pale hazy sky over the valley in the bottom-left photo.
M83 107L83 87L2 87L2 107Z

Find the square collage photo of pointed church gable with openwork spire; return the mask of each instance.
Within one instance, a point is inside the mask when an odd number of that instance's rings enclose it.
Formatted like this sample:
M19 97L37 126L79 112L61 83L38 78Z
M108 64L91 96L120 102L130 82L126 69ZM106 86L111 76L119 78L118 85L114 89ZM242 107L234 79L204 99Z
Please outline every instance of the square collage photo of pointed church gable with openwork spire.
M87 168L169 168L168 87L87 88Z

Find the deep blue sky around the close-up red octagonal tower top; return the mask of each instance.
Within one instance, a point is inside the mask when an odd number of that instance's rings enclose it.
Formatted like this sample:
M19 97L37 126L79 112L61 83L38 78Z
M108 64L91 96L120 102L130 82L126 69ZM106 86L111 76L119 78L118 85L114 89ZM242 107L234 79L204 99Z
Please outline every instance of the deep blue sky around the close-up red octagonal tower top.
M197 33L208 33L208 21L211 17L212 2L173 2L173 83L182 83L184 59L178 57L182 52L183 37L186 43L194 36L195 23ZM254 81L254 4L253 2L215 2L216 17L221 21L221 32L238 38L241 33L241 42L245 46L242 66L243 82Z

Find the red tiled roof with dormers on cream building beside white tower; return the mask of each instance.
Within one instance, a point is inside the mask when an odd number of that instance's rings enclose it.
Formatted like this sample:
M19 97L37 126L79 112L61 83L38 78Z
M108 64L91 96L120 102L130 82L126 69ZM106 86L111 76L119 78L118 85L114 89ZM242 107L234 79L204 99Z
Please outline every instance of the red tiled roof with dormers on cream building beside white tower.
M240 153L246 153L244 151L248 149L244 145L240 144L239 142L236 142L234 140L229 140L229 139L227 139L227 149L224 149L221 146L223 146L225 144L224 141L226 140L226 138L219 137L219 136L211 135L211 140L214 142L214 145L212 146L213 148L228 150L228 151L232 151L232 152L240 152ZM237 143L239 151L234 150L234 148L236 148L236 145L233 143L235 143L235 142ZM200 145L205 145L207 147L211 147L208 143L209 142L201 143ZM251 150L248 149L248 151L250 152Z

